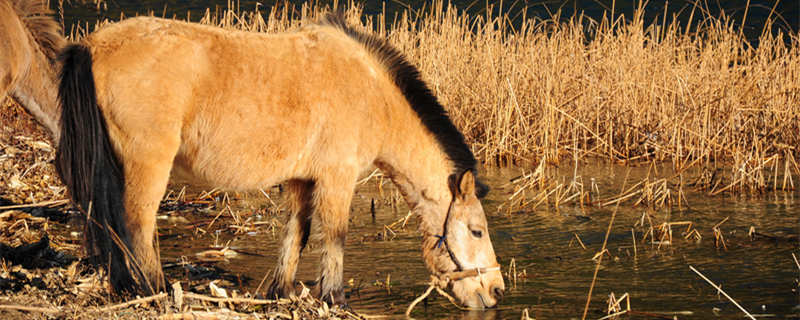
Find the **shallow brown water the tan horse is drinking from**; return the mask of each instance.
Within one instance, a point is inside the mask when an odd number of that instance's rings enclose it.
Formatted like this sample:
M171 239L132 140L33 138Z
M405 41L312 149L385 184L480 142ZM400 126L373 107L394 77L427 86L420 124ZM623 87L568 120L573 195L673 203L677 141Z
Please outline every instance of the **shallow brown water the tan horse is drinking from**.
M621 183L644 174L644 169L585 166L584 177L595 177L604 183ZM586 208L566 206L560 210L540 207L532 211L505 213L498 211L509 195L510 178L519 170L495 170L486 176L492 192L484 200L491 237L503 272L513 258L519 275L516 285L506 277L506 297L501 306L488 312L462 312L449 305L446 299L436 297L427 306L417 306L415 318L467 318L467 319L519 319L522 310L528 309L537 319L580 318L586 303L589 286L595 269L592 257L600 251L608 228L613 207ZM614 185L614 184L612 184ZM619 188L619 185L616 185ZM393 189L387 184L385 194ZM592 295L589 319L606 315L607 299L613 293L620 297L630 295L631 309L639 312L665 315L667 319L677 312L678 319L741 319L744 314L696 274L694 266L753 314L774 317L800 317L798 300L798 266L792 258L800 253L797 235L800 233L800 203L798 193L771 193L752 198L704 197L688 194L690 209L649 210L624 205L616 214L608 239L610 255L603 258ZM252 212L252 207L265 203L263 197L250 195L253 200L234 201L234 211ZM370 214L372 199L376 212ZM348 302L357 311L366 314L397 315L400 317L408 304L426 289L428 273L419 248L420 237L416 220L411 219L405 231L397 232L391 240L380 239L384 225L403 218L404 204L392 209L388 197L381 198L374 180L357 190L351 210L350 231L345 250L345 279ZM205 227L209 217L186 216ZM686 226L673 226L673 242L660 247L648 240L642 243L646 228L635 227L636 253L634 254L631 230L641 221L643 213L650 215L653 225L662 222L690 221L702 235L702 240L686 240L682 232ZM232 219L221 216L218 226ZM728 217L720 229L727 249L717 248L712 227ZM280 216L264 216L263 221ZM221 224L220 224L221 223ZM646 222L647 224L647 222ZM265 274L274 268L277 260L280 231L266 226L255 232L233 235L222 231L217 236L192 236L186 231L187 223L177 228L161 222L162 259L174 262L181 256L195 259L194 254L211 246L215 241L229 245L239 254L227 262L215 265L235 276L251 278L240 290L254 291ZM751 240L750 227L759 233L772 235L779 240L763 237ZM176 231L184 230L184 231ZM175 234L179 234L177 238ZM380 236L379 236L380 235ZM580 237L586 249L576 241ZM216 239L215 239L216 238ZM390 237L391 238L391 237ZM312 241L313 245L313 241ZM314 248L306 250L301 260L298 278L313 280L319 258ZM384 283L389 277L389 290ZM434 294L435 295L435 294ZM630 318L652 318L637 316Z

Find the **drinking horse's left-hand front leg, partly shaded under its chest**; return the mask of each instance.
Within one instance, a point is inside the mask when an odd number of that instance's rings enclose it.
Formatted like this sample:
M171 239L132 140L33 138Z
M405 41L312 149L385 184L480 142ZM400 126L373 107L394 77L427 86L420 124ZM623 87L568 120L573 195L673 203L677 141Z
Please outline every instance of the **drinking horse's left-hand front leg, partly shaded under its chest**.
M286 224L286 235L281 246L281 255L275 267L275 277L267 290L269 298L285 298L294 294L294 277L300 254L308 243L311 229L313 206L311 195L314 182L307 180L291 180L286 184L289 193L291 216Z

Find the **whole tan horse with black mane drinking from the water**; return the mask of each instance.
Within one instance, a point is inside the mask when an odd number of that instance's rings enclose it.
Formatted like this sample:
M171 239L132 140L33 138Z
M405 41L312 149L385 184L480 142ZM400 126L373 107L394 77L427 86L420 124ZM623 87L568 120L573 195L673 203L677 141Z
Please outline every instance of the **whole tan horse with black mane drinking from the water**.
M138 17L61 59L56 165L91 217L88 242L114 288L164 289L155 217L172 174L234 190L285 183L291 214L269 295L294 294L314 219L315 295L343 304L350 203L359 175L377 166L421 218L427 268L465 306L502 296L475 157L385 40L338 15L282 34Z

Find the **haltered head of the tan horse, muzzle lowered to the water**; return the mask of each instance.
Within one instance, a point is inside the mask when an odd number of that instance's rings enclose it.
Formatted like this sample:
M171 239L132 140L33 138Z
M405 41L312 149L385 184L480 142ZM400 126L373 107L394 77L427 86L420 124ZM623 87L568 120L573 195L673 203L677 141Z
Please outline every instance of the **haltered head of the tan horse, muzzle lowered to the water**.
M503 296L505 284L494 254L479 197L488 189L472 171L449 179L452 200L439 234L424 241L425 262L461 304L490 308Z

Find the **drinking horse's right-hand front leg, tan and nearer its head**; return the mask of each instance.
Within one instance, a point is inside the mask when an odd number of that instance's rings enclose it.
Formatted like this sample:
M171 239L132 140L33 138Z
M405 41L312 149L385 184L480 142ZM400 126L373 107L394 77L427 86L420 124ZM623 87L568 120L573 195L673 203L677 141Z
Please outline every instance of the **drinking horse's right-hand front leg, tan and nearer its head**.
M346 303L342 283L344 243L357 173L338 173L317 181L314 192L314 206L322 232L320 273L314 293L323 301L341 305Z

